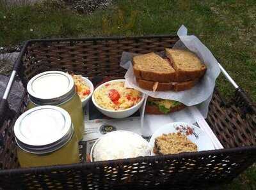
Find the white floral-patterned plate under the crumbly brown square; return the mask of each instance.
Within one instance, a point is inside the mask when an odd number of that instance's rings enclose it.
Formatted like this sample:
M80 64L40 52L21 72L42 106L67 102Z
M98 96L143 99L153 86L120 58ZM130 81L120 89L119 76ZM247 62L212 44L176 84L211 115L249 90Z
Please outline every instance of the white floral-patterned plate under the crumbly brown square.
M188 128L193 130L192 134L188 134L188 131L189 131ZM150 138L149 144L152 147L152 155L155 155L153 152L155 138L157 138L158 136L161 136L163 134L178 133L179 131L182 134L187 135L188 139L197 145L198 151L214 150L215 149L209 136L204 131L202 131L202 129L198 128L197 126L188 124L186 122L172 122L170 124L166 124L163 127L157 129L156 132ZM186 134L186 132L187 132L187 134ZM198 137L198 138L196 138L196 137Z

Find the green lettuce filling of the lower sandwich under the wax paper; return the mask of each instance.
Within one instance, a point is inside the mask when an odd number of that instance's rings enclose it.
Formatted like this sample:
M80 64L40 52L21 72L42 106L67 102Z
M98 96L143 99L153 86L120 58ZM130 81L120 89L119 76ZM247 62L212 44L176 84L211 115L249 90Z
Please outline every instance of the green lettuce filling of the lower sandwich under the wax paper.
M157 106L160 112L168 113L175 106L181 105L181 103L170 99L148 98L147 105Z

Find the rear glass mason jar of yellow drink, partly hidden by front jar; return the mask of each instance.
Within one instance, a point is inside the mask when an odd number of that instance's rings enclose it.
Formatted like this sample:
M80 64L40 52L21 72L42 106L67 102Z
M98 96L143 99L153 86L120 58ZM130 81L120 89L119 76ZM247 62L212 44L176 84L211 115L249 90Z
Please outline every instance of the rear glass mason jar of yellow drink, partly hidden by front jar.
M83 138L82 102L70 75L61 71L40 73L29 80L27 91L29 98L27 110L42 105L59 106L69 113L77 139Z

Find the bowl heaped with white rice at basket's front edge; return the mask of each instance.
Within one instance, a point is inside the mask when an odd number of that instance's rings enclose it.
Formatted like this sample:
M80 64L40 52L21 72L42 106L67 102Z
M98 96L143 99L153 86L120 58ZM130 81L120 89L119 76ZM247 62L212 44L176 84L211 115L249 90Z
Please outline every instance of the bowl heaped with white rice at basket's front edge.
M106 161L131 157L150 156L147 140L131 131L113 131L101 136L90 152L91 161Z

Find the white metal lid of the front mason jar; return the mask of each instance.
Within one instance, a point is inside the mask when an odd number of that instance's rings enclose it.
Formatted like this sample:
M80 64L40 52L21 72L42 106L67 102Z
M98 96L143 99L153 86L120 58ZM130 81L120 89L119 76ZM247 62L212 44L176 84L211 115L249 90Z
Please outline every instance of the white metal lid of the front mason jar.
M45 154L60 149L73 135L70 115L57 106L37 106L20 115L14 125L20 149Z

